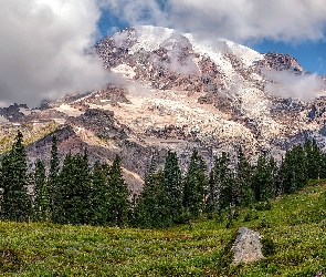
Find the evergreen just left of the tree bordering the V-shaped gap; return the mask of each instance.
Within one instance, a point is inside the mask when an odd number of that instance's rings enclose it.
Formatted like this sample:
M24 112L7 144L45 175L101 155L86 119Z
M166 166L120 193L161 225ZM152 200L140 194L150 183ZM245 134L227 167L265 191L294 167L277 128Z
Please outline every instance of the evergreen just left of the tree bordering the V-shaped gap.
M109 217L109 192L108 192L109 166L101 164L98 161L94 164L92 173L91 197L91 218L92 225L106 225Z

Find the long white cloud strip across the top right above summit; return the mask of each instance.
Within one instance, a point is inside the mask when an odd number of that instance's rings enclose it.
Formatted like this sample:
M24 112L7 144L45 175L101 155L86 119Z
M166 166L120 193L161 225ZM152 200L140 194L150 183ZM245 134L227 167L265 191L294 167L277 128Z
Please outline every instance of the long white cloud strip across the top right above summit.
M235 41L325 37L325 0L167 0L165 9L156 0L102 0L102 3L132 25L169 25Z

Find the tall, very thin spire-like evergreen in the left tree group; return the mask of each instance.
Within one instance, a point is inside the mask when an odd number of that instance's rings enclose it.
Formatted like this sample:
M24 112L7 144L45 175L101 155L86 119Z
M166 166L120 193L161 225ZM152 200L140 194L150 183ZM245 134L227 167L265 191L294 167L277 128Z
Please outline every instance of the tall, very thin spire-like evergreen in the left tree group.
M51 145L51 158L50 158L50 170L48 176L48 186L49 186L49 195L50 195L50 207L51 207L51 217L54 222L56 222L57 216L57 206L60 205L57 195L60 194L57 189L57 178L60 172L60 161L57 154L57 140L56 136L52 136L52 145Z

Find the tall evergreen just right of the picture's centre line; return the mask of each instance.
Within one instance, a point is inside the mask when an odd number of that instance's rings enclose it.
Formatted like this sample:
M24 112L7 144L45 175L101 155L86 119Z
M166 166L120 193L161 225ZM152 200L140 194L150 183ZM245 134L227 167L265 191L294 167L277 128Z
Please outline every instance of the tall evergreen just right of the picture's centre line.
M164 188L169 199L169 209L175 223L185 220L182 206L182 177L175 152L168 151L164 168Z

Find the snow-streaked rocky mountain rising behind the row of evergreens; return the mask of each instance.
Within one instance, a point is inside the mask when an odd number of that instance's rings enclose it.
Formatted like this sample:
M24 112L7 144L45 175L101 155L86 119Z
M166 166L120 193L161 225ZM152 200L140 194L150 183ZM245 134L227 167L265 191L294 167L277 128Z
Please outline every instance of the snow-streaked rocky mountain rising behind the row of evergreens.
M92 52L116 82L40 109L0 109L1 152L20 129L30 164L49 162L54 133L61 157L83 148L91 162L119 154L130 188L139 192L151 157L162 164L169 148L185 170L193 148L210 166L221 151L232 154L239 145L251 157L270 151L276 158L306 137L325 147L326 99L318 96L325 78L295 58L158 27L125 29Z

